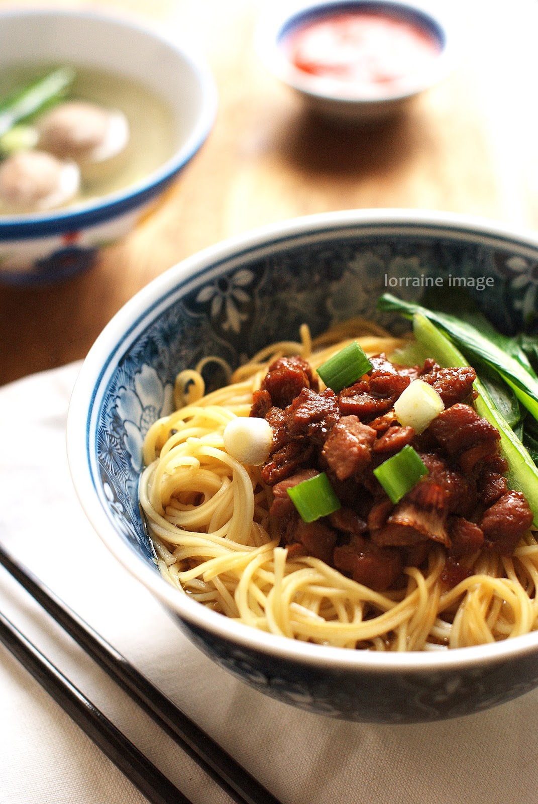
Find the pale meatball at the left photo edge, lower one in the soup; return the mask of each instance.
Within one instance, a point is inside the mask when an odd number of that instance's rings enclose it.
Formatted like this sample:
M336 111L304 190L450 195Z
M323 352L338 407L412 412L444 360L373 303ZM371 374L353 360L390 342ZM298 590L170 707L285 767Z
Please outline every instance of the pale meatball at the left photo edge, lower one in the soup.
M79 187L76 163L44 151L19 151L0 163L0 205L7 213L61 207L74 198Z

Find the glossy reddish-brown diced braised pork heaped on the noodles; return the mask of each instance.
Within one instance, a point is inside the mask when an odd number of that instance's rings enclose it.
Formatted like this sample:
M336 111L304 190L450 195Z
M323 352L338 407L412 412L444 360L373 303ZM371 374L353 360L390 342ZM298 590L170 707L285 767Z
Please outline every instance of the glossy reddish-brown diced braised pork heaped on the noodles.
M449 585L469 574L460 564L465 556L482 548L511 555L533 515L503 477L499 431L470 406L474 369L443 369L432 359L401 367L385 355L370 361L368 374L335 394L318 391L302 358L277 359L254 393L250 415L273 429L261 476L273 486L270 513L290 557L315 556L384 591L402 582L403 568L427 560L434 544L446 550ZM420 435L400 426L393 410L417 378L445 404ZM417 450L428 474L394 505L373 470L406 445ZM342 507L305 523L287 490L319 472L326 472Z

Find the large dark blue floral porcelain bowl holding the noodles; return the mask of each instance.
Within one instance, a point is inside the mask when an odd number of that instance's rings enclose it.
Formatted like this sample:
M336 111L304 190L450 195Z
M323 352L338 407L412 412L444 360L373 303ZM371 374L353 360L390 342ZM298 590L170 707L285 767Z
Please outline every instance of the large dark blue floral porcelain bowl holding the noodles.
M538 685L538 632L451 651L378 654L265 634L189 600L158 572L138 509L142 438L171 409L176 373L207 354L238 365L267 343L376 313L385 289L420 299L461 279L496 326L538 328L538 236L442 213L345 211L290 220L191 257L142 289L80 371L68 457L101 539L222 667L273 697L348 720L461 716ZM487 281L492 280L492 281ZM439 283L437 283L439 284ZM482 289L478 289L482 288Z

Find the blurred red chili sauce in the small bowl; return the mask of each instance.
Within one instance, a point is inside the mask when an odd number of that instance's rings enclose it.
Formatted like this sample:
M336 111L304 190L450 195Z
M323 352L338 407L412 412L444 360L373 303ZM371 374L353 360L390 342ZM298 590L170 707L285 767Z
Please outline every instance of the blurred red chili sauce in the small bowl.
M367 10L314 19L283 42L291 63L335 91L376 97L404 93L432 67L441 43L418 23ZM339 85L339 88L338 88Z

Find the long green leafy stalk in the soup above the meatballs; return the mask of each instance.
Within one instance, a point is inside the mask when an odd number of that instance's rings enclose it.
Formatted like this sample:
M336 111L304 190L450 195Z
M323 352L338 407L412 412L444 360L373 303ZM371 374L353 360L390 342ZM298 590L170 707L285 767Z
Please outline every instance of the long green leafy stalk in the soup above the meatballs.
M60 99L74 80L72 68L60 67L0 101L0 137Z

